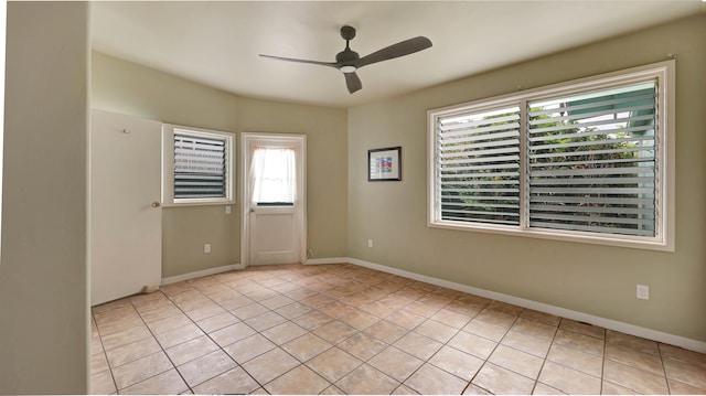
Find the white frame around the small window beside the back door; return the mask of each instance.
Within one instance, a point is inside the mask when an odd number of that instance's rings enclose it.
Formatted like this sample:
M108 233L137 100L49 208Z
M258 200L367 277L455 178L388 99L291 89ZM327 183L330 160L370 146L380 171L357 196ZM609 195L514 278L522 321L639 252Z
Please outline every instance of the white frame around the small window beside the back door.
M174 197L174 133L190 135L225 141L225 196ZM162 124L162 206L233 205L235 204L235 135L218 130Z

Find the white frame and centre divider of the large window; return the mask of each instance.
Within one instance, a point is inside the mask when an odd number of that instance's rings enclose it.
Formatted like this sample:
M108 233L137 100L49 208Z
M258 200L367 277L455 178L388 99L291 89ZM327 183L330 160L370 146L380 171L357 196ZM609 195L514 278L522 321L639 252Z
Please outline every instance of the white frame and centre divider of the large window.
M527 183L527 104L558 96L627 86L656 81L656 179L655 236L631 236L595 232L539 228L530 226ZM502 106L520 106L520 225L441 220L438 202L437 121L441 117L492 110ZM675 61L654 63L612 73L542 86L520 93L473 100L427 111L427 226L468 232L578 242L608 246L674 251L675 218Z

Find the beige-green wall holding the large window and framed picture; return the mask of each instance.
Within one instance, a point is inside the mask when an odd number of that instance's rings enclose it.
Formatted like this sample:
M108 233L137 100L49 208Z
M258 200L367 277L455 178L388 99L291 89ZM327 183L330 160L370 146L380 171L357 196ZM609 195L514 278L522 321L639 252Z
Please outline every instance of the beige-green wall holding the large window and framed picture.
M676 251L429 228L426 111L676 55ZM706 341L706 15L349 111L349 256ZM403 178L368 183L366 152L402 146ZM367 239L374 247L367 247ZM635 285L650 300L635 299Z

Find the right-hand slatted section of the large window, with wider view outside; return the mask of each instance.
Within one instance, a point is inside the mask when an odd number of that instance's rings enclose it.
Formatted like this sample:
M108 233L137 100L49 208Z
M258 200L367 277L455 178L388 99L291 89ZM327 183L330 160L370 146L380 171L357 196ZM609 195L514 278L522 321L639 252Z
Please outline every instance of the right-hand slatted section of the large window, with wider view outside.
M528 104L531 227L655 235L655 90Z

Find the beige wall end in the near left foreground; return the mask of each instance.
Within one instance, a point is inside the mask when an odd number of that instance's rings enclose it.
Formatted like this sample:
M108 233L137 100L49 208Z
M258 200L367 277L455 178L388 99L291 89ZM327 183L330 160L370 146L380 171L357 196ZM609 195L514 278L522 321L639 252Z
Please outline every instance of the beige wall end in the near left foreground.
M0 394L85 394L88 6L7 6Z

